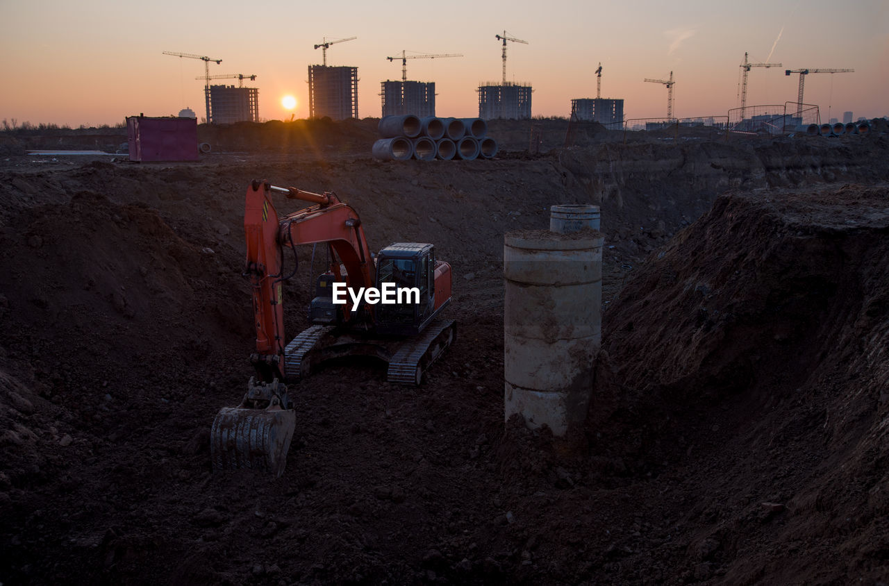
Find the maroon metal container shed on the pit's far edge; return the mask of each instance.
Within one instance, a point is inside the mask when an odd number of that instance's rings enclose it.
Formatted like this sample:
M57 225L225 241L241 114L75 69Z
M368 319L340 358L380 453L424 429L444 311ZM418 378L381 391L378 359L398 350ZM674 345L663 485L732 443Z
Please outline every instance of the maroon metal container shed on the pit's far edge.
M196 118L127 116L131 161L196 161Z

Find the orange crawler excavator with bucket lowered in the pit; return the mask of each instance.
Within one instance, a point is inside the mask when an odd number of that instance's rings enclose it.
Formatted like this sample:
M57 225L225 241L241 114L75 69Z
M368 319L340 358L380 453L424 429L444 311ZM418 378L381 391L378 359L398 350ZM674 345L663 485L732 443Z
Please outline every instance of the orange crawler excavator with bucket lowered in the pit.
M308 202L279 216L272 195ZM255 375L241 404L224 407L211 431L215 470L284 473L296 414L286 383L325 360L364 355L388 363L390 382L420 385L423 373L453 343L456 324L441 316L451 301L451 266L430 244L396 243L372 254L358 213L336 194L252 181L244 204L252 288ZM298 268L297 245L326 245L327 270L317 277L308 329L285 343L283 283ZM293 267L284 269L290 249Z

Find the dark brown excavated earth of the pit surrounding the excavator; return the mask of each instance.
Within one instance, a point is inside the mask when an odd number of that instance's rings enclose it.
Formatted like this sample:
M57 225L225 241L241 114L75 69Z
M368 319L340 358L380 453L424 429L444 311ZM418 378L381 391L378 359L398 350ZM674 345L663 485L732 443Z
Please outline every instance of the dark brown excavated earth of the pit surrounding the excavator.
M889 539L889 202L885 185L823 183L874 183L889 157L885 138L835 144L455 165L12 157L0 582L873 582ZM213 475L208 449L251 374L254 178L335 190L372 249L433 242L455 276L458 341L423 387L373 362L294 385L280 479ZM555 203L601 204L613 246L576 454L502 421L503 234L547 226ZM300 251L285 290L290 336L310 264Z

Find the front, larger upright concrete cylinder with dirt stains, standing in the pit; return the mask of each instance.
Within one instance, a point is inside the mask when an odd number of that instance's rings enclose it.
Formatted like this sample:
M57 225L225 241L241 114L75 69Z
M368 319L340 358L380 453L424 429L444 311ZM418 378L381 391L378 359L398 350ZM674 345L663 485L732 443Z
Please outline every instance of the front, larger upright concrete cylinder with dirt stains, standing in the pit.
M504 418L581 430L602 342L600 235L524 230L503 248Z

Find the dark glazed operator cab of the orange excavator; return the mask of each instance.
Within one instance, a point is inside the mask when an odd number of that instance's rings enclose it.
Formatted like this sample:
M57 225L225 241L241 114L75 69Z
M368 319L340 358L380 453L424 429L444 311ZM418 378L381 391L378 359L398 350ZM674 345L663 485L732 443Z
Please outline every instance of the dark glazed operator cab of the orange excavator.
M447 266L445 263L439 263ZM447 271L450 298L450 270ZM377 333L416 335L435 317L436 307L435 247L429 244L396 243L377 256L377 287L385 291L395 284L396 303L380 303L374 311Z

